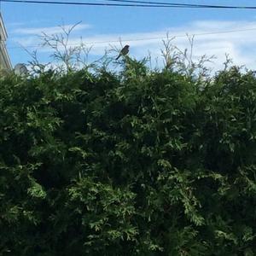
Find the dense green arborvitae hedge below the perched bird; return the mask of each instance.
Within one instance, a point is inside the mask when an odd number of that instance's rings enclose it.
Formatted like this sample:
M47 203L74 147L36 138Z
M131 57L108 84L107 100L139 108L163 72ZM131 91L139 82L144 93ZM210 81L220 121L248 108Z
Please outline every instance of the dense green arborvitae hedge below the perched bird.
M0 79L0 254L256 255L256 78Z

